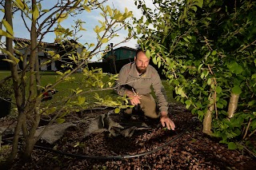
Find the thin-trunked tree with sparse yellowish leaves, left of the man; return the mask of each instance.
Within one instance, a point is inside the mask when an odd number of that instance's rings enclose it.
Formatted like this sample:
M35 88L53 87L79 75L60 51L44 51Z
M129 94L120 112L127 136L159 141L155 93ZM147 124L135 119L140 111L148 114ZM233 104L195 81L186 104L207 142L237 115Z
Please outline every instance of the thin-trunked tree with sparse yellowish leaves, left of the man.
M56 4L50 9L43 9L42 1L5 1L4 11L5 18L2 20L2 24L5 30L0 30L0 35L6 37L6 49L2 48L2 51L7 54L8 58L5 60L10 63L11 78L14 85L14 96L15 104L18 109L18 123L15 127L14 140L12 152L10 154L9 161L13 161L18 152L18 140L19 133L22 130L22 136L25 139L25 149L23 156L25 159L30 158L31 152L34 148L34 144L38 141L40 136L35 137L35 131L38 128L40 117L42 113L56 113L54 119L50 122L52 124L58 117L63 116L65 111L65 105L70 105L70 100L67 100L62 109L58 112L56 109L44 109L41 105L42 93L54 88L60 82L65 81L72 73L78 69L83 69L85 75L88 79L92 81L94 78L102 77L102 72L100 69L89 72L86 68L88 61L94 57L97 53L105 53L106 49L101 49L102 45L109 42L114 37L118 36L118 30L125 28L128 30L129 35L122 42L128 41L132 36L132 31L130 30L130 25L126 20L132 17L132 12L126 11L121 13L117 9L111 9L110 6L104 6L105 0L74 0L65 1L61 0L56 2ZM30 43L29 44L19 44L13 46L14 31L13 31L13 9L18 9L23 18L24 25L26 29L30 31ZM102 15L102 21L99 21L100 25L94 27L94 32L97 34L98 43L96 45L86 42L85 45L81 43L74 44L74 41L78 41L78 32L85 31L82 26L82 21L78 20L75 22L74 30L70 28L64 28L61 22L70 16L75 14L81 14L85 12L90 12L91 10L100 10ZM30 28L29 28L30 26ZM45 63L39 65L38 62L38 48L42 45L42 39L46 34L54 32L56 35L55 42L62 45L63 49L70 48L69 53L53 53L48 51L50 55L50 61L62 60L62 57L69 57L76 65L67 68L65 73L58 71L60 78L54 85L46 85L42 87L40 81L39 68ZM69 42L69 43L67 43ZM121 43L121 42L119 42ZM119 43L116 43L118 45ZM68 47L66 45L69 45ZM19 47L26 47L29 49L30 53L19 53ZM82 53L75 53L74 48L80 46L83 50ZM60 54L63 54L62 56ZM50 62L46 61L46 62ZM22 70L18 71L18 63L22 62ZM70 66L70 65L69 65ZM98 73L95 75L95 73ZM101 73L101 74L100 74ZM114 78L114 77L110 77ZM106 88L111 89L111 83L104 85L101 80L96 83L100 90ZM26 88L28 86L28 89ZM94 85L95 86L95 85ZM74 95L77 97L77 104L81 105L85 102L85 98L78 96L82 92L82 89L74 89ZM112 102L112 105L117 107L122 105L122 102Z

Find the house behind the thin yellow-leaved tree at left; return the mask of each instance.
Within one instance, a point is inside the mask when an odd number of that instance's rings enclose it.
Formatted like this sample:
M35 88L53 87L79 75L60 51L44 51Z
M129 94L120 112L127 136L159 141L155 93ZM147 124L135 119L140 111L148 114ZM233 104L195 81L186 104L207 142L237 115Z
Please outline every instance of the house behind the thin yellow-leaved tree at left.
M29 61L30 58L30 48L28 48L28 46L30 46L30 40L26 38L14 38L14 45L16 46L15 49L18 49L18 53L14 53L14 55L23 61L18 63L18 67L19 69L25 69L26 62ZM71 61L69 56L76 56L76 53L82 53L83 48L83 46L78 45L78 42L73 40L70 40L70 42L62 42L62 44L40 42L38 45L39 69L42 71L62 70L62 65L66 63L74 65L75 67L74 61ZM61 58L51 57L49 52L59 54ZM10 70L9 62L2 61L4 58L7 58L6 54L0 54L0 69Z

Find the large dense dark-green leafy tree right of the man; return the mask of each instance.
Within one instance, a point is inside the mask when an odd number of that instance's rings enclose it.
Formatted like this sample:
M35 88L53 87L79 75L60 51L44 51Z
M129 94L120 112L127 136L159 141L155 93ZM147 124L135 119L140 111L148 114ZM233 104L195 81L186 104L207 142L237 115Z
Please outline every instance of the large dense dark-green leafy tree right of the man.
M236 148L231 139L256 128L255 2L153 3L152 10L135 2L146 17L135 22L142 48L165 67L176 100L198 115L202 131Z

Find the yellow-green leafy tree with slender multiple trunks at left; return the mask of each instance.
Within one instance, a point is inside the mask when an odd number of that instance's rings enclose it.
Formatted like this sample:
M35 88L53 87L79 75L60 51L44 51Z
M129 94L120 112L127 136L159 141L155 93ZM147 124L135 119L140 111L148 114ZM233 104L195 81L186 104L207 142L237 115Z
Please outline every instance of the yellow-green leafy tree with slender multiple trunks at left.
M6 43L5 46L1 47L1 50L7 55L4 61L10 63L15 94L14 103L18 110L18 123L15 128L10 161L14 160L17 155L21 131L22 137L25 139L23 157L29 158L34 144L40 139L43 132L46 132L46 128L54 124L54 121L63 123L66 114L93 107L88 104L88 97L84 96L86 93L113 89L116 76L107 77L101 69L89 69L87 64L92 57L98 56L98 54L104 55L109 50L104 48L104 45L117 37L120 30L125 29L128 35L120 42L115 42L115 45L127 42L134 36L132 26L128 21L133 14L127 9L123 13L120 10L112 9L110 6L105 6L104 2L106 0L60 0L50 2L52 4L50 7L45 6L45 2L36 0L13 0L5 1L4 5L2 4L4 10L1 13L4 18L2 18L0 36L6 38ZM93 30L96 34L95 42L97 43L86 42L82 44L79 42L83 35L82 32L89 30L90 26L85 21L78 19L74 23L70 23L67 28L64 21L96 9L100 11L102 17L98 21L98 26L94 26ZM25 42L18 42L17 38L14 38L16 30L14 30L12 23L13 18L17 17L17 12L21 14L22 26L30 34L30 39ZM43 42L43 38L51 33L56 36L54 43ZM14 46L13 42L15 42ZM48 45L55 45L58 50L49 49ZM40 63L38 53L44 53L47 59ZM43 85L40 69L54 61L61 63L56 72L58 77L54 83ZM70 97L62 99L63 106L61 108L42 104L41 100L44 93L61 83L74 81L73 74L78 70L83 70L86 88L72 89L71 87L72 93ZM104 78L109 78L109 81L102 81ZM103 99L97 95L95 98L98 99L98 103L94 103L94 107L97 105L99 107L102 105L105 107L126 107L122 105L121 99L114 101L110 97ZM54 115L53 119L42 130L41 134L35 137L42 115L49 114Z

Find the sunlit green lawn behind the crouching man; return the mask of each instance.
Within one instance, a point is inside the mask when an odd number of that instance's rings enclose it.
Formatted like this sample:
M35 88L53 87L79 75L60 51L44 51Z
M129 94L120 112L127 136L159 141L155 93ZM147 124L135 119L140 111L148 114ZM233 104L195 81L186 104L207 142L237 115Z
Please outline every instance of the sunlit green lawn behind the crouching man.
M0 72L0 80L2 78L10 76L10 71L1 71ZM54 84L58 80L59 75L54 72L41 72L41 83L42 86ZM71 75L71 77L74 77L74 79L71 79L70 81L63 81L56 85L54 89L58 90L58 93L54 94L53 98L49 101L42 101L43 106L55 106L55 107L62 107L65 101L72 93L72 89L82 89L83 92L86 92L90 90L88 87L88 83L86 83L85 76L83 73L74 73ZM103 78L104 81L107 80L107 77ZM166 89L166 96L167 101L172 102L173 99L173 88L167 84L167 81L162 81L162 85L164 85ZM28 91L28 90L27 90ZM28 93L28 92L27 92ZM105 90L105 91L98 91L98 94L100 97L106 97L110 96L113 99L116 99L118 95L114 92L114 90ZM94 98L94 93L85 93L82 95L82 97L86 97L86 102L88 102L88 105L94 105L94 102L96 99ZM13 97L14 98L14 97ZM13 100L14 101L14 100Z

